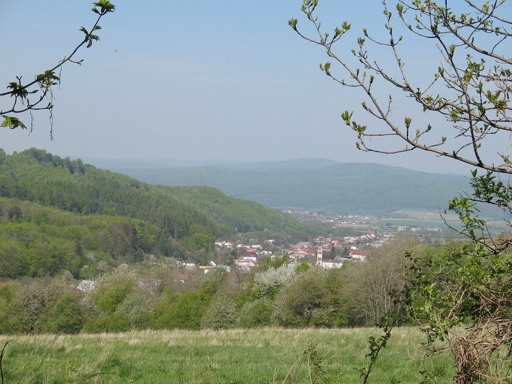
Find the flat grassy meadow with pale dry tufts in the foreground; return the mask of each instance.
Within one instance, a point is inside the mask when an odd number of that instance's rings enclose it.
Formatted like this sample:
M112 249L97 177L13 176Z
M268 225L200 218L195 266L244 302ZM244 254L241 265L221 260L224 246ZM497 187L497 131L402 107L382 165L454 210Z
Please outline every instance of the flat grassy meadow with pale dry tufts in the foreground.
M310 382L307 345L315 346L329 383L360 383L368 337L378 329L142 331L99 335L0 336L7 346L6 384L79 383L98 372L113 372L134 383L289 383ZM395 329L378 360L372 383L420 381L415 328ZM300 361L299 361L300 360ZM450 376L440 356L432 368L437 382ZM114 375L87 382L122 383Z

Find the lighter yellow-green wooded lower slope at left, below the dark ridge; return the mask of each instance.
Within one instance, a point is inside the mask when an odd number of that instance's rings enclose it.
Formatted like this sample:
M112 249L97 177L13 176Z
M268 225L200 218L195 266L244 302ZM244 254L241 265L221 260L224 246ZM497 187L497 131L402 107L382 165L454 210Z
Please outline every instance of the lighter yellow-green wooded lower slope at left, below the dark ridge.
M97 266L85 254L123 260L129 253L151 253L155 246L157 229L147 222L79 216L0 198L0 209L12 207L19 208L20 219L0 220L0 275L10 278L56 274L62 269L79 276L82 266Z

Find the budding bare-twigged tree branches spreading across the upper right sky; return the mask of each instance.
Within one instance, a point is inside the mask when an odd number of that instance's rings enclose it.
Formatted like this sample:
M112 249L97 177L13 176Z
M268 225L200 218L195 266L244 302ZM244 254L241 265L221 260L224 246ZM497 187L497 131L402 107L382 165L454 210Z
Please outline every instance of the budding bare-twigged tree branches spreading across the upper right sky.
M392 12L388 2L383 0L387 36L376 38L364 29L362 36L357 38L356 48L347 53L337 53L335 48L350 31L351 24L344 22L341 27L335 27L333 33L325 32L315 16L317 0L305 0L302 6L315 37L298 29L296 18L290 19L288 24L302 38L326 50L333 62L322 64L321 70L342 86L362 90L367 98L361 103L362 108L388 128L377 131L382 125L375 124L369 129L353 118L353 112L343 113L344 122L357 134L356 145L361 151L394 154L420 149L510 174L512 168L506 150L499 152L501 164L486 159L481 153L486 138L512 132L509 117L512 59L506 56L504 45L512 33L512 20L503 17L506 0L486 2L483 6L469 0L460 2L469 9L453 1L442 3L441 6L431 0L399 0L396 12ZM409 76L401 55L404 37L398 35L394 27L397 20L406 26L402 29L435 42L441 61L433 65L431 78L420 81ZM384 68L371 58L369 49L372 46L388 49L394 67ZM351 65L350 56L355 58L357 66ZM348 75L347 79L335 74L334 64ZM402 95L415 101L419 111L442 116L453 129L449 131L434 122L424 123L424 119L415 121L409 114L396 117L400 114L395 112L393 116L395 100L392 93L382 99L374 92L375 87L388 86L404 92ZM397 138L405 146L395 150L374 146L386 137Z

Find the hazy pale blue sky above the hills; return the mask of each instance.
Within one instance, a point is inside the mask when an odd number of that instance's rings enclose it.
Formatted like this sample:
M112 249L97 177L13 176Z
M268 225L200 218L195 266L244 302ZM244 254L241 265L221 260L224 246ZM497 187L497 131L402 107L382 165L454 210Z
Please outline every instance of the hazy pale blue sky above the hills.
M60 156L191 164L324 157L435 172L468 169L420 153L356 150L355 135L340 114L354 109L362 121L375 121L360 109L359 93L336 86L319 71L318 64L327 60L324 52L287 25L301 16L300 0L113 3L117 9L102 21L101 41L79 52L81 67L62 71L54 140L47 113L37 113L30 136L0 131L0 146L8 153L36 146ZM32 78L68 54L83 37L78 28L93 23L90 8L89 1L3 0L0 83L16 75ZM343 20L352 23L339 47L345 55L355 48L362 27L383 30L380 0L324 0L319 16L329 29ZM411 76L431 76L436 51L412 38L405 49ZM389 59L380 51L375 57ZM434 57L433 67L427 57ZM408 106L395 106L400 119L401 107Z

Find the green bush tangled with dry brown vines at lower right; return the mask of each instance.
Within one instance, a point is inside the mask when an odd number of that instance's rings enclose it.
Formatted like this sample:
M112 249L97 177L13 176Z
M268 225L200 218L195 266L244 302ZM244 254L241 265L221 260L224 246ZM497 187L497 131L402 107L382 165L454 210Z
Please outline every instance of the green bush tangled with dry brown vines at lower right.
M471 210L464 199L452 204L461 219ZM464 222L473 244L446 244L427 258L409 253L408 309L426 336L428 355L452 351L461 382L501 382L512 371L505 341L512 337L512 257L508 247L497 248L503 244L476 236L481 223L473 219Z

